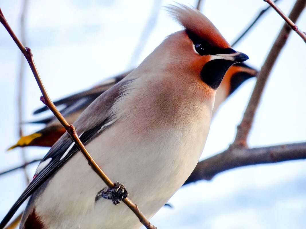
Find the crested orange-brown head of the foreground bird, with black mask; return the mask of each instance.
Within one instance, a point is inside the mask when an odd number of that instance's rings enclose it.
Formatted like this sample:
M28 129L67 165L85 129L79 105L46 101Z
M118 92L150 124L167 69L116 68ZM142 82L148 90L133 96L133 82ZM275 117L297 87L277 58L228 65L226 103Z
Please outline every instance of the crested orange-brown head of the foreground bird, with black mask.
M177 77L191 76L216 90L232 64L248 60L247 55L232 49L211 21L197 9L185 5L166 8L184 30L169 35L148 57L158 58L159 66L155 67L170 70Z

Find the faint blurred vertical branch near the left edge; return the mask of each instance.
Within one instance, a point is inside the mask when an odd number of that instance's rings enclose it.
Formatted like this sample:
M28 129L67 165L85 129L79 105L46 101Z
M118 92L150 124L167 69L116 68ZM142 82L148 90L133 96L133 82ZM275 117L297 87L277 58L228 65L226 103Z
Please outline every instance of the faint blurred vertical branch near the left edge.
M22 10L21 10L21 16L20 16L20 40L21 43L26 45L26 36L25 36L25 29L24 29L24 18L27 13L28 9L28 0L23 1ZM23 95L24 95L24 58L22 53L20 53L20 67L19 67L19 74L18 74L18 91L17 91L17 111L18 111L18 132L19 137L23 136L23 130L22 130L22 122L23 122ZM25 148L21 148L21 158L24 164L26 164L26 155L25 155ZM27 184L30 181L26 166L23 167L24 170L24 176L26 179Z

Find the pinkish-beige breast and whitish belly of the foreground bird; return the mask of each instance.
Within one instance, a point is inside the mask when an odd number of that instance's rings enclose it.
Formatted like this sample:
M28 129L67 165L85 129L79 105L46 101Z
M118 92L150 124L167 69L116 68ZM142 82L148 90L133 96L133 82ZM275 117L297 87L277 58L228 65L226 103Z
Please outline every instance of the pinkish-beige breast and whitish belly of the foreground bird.
M111 180L125 184L129 198L147 218L166 204L196 166L214 102L214 93L199 94L193 83L168 90L172 82L152 84L151 79L156 77L129 84L129 93L113 106L118 120L86 146ZM140 228L124 203L116 206L101 199L95 204L104 187L78 152L47 187L36 191L31 206L46 229Z

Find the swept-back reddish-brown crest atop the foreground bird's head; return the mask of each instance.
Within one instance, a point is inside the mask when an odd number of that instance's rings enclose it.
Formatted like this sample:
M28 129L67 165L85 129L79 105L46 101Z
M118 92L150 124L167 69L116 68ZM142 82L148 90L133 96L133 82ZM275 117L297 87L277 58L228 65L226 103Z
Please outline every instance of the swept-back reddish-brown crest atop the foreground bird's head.
M166 6L166 10L186 30L196 34L210 45L223 49L231 47L211 21L194 7L177 4Z

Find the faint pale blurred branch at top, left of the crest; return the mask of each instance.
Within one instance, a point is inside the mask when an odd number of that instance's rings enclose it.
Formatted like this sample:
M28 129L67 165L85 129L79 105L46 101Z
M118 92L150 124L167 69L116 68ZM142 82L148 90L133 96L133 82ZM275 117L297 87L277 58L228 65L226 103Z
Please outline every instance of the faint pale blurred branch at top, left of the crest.
M155 27L161 4L162 0L154 1L149 19L147 20L147 24L144 26L144 30L142 31L138 43L136 45L136 48L132 53L132 57L128 64L128 68L135 67L134 65L137 63L139 56L144 49L144 46L147 44L148 39Z

